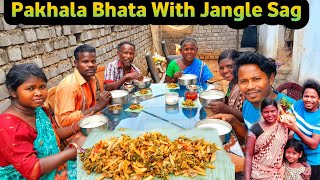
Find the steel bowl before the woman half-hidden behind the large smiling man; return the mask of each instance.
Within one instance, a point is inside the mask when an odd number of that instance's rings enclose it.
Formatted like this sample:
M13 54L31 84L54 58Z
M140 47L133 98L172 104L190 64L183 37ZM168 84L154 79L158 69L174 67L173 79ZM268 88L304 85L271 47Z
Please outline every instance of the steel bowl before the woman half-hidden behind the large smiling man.
M223 91L212 89L199 94L199 100L203 107L209 107L211 102L224 102L226 94Z

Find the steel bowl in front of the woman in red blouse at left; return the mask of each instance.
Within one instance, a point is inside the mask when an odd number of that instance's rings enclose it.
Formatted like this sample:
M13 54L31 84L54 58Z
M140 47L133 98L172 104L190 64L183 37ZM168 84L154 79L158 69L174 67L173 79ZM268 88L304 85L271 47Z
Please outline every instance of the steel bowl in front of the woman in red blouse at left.
M108 118L104 115L92 115L79 121L83 135L88 136L94 129L108 129Z

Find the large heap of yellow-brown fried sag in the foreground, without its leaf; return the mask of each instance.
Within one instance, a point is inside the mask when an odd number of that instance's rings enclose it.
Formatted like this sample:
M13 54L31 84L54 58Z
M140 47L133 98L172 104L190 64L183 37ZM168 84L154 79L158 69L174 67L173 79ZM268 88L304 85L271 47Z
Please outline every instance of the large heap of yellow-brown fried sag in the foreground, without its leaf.
M158 132L137 138L122 134L101 140L80 154L88 174L102 174L99 179L169 179L169 174L195 177L215 168L215 152L221 148L204 139L180 136L174 141Z

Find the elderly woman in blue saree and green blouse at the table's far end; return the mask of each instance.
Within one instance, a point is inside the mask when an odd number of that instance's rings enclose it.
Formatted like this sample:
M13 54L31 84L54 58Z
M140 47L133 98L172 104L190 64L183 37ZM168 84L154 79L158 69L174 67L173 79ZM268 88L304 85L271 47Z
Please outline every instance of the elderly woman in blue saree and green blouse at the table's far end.
M182 58L170 62L166 72L165 82L177 82L182 74L195 74L198 76L198 84L205 83L213 77L209 67L196 58L198 52L197 41L186 37L180 42Z

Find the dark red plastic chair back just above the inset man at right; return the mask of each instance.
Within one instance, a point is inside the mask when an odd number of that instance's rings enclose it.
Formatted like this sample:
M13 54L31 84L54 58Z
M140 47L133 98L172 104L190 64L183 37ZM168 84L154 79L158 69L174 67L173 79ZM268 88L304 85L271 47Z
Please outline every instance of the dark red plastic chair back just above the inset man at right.
M297 83L286 82L286 83L281 84L277 88L278 92L282 92L284 90L287 90L287 93L286 93L287 96L289 96L295 100L299 100L302 98L303 87Z

